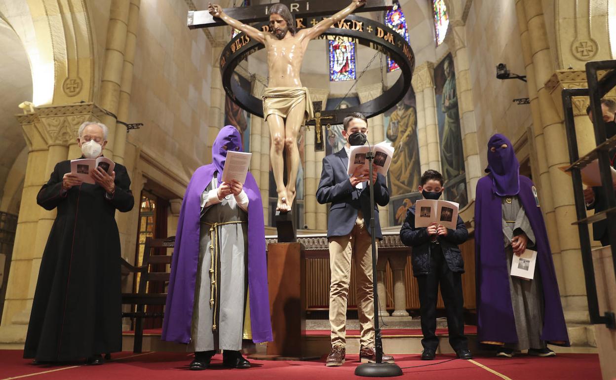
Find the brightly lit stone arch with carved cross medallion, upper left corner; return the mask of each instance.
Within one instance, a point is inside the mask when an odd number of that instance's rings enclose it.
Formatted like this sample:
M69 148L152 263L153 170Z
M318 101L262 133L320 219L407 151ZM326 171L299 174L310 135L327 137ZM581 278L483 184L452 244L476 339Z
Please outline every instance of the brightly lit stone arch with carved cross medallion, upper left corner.
M4 2L0 18L17 33L28 55L34 105L92 101L94 36L86 1Z

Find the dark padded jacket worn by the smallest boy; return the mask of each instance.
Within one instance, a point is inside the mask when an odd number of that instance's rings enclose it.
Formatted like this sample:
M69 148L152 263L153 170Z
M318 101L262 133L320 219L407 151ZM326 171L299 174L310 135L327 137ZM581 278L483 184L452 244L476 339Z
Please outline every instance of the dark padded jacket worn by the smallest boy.
M447 236L437 235L447 267L454 273L464 273L464 260L458 244L464 243L467 238L468 230L460 216L455 231L447 228ZM415 228L415 206L407 211L407 218L400 229L400 240L404 245L413 247L413 275L418 277L430 273L431 236L428 235L426 227Z

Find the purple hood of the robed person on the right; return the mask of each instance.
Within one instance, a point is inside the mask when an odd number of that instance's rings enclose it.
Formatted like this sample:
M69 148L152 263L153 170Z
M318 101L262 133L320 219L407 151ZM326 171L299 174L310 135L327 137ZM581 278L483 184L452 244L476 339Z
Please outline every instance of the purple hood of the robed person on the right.
M502 148L506 144L506 148ZM492 152L492 148L495 152ZM488 167L497 195L517 195L520 192L520 163L511 141L505 135L495 134L488 141Z

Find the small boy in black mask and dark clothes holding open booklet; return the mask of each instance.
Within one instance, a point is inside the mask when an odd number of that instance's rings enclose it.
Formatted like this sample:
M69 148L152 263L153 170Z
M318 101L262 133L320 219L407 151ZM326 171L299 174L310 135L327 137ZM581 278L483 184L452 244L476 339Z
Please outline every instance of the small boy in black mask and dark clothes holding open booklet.
M427 170L421 176L419 192L424 199L438 200L443 193L443 176L436 170ZM468 230L460 216L456 229L432 223L428 227L415 227L415 206L407 211L400 228L400 240L413 247L413 275L419 287L419 313L424 347L421 360L434 360L439 338L436 336L436 302L440 293L447 312L449 344L460 359L472 359L468 339L464 336L464 298L462 273L464 261L458 244L468 238Z

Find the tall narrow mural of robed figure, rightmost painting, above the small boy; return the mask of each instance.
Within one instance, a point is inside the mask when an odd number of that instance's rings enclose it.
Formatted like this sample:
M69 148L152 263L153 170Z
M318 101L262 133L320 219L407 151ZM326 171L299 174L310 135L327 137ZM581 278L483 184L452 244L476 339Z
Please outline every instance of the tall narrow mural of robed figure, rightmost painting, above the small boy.
M434 68L434 84L439 123L440 164L445 178L445 198L456 201L460 203L460 207L463 207L468 204L468 196L466 195L456 76L451 53Z

